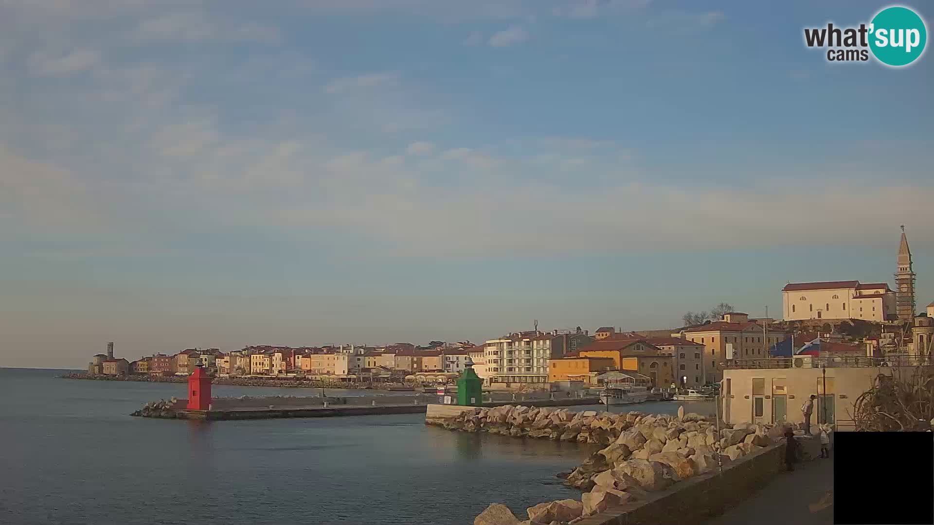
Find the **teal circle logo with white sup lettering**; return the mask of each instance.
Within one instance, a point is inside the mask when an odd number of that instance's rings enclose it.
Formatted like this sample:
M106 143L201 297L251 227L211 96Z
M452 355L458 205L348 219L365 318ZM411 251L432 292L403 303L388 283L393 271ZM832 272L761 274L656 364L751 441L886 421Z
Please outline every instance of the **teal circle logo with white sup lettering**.
M886 7L870 22L870 50L883 64L912 64L925 52L925 44L925 21L908 7Z

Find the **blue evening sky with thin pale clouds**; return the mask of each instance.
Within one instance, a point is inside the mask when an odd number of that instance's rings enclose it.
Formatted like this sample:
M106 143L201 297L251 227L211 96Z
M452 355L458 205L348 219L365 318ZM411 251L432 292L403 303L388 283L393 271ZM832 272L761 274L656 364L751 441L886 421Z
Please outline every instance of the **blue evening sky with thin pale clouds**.
M920 309L934 59L802 37L881 7L0 0L0 366L774 316L902 224Z

